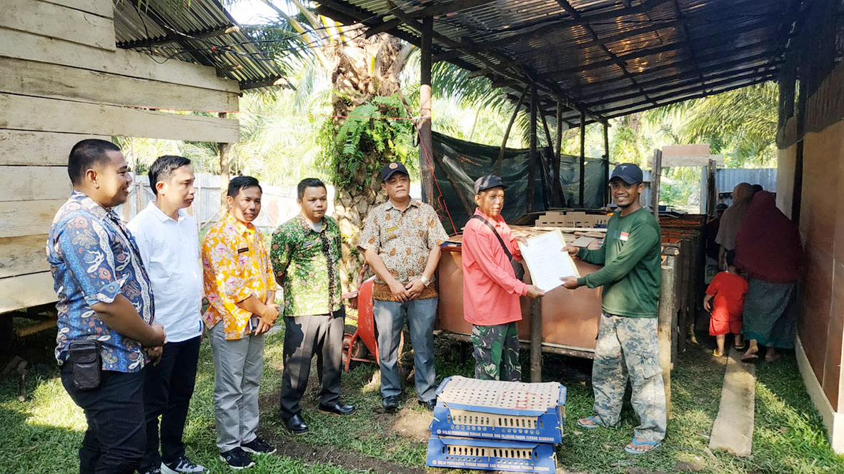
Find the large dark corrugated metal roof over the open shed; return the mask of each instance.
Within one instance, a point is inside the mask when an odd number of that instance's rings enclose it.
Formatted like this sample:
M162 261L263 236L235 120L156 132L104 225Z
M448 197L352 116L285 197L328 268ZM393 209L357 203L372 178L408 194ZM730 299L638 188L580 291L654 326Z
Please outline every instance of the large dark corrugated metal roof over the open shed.
M421 18L433 16L435 58L497 83L533 80L547 113L561 96L591 112L587 121L771 80L800 6L799 0L317 3L338 21L371 27L398 14L402 24L387 31L417 43ZM523 83L505 89L515 97ZM574 125L579 112L566 108L563 120Z

